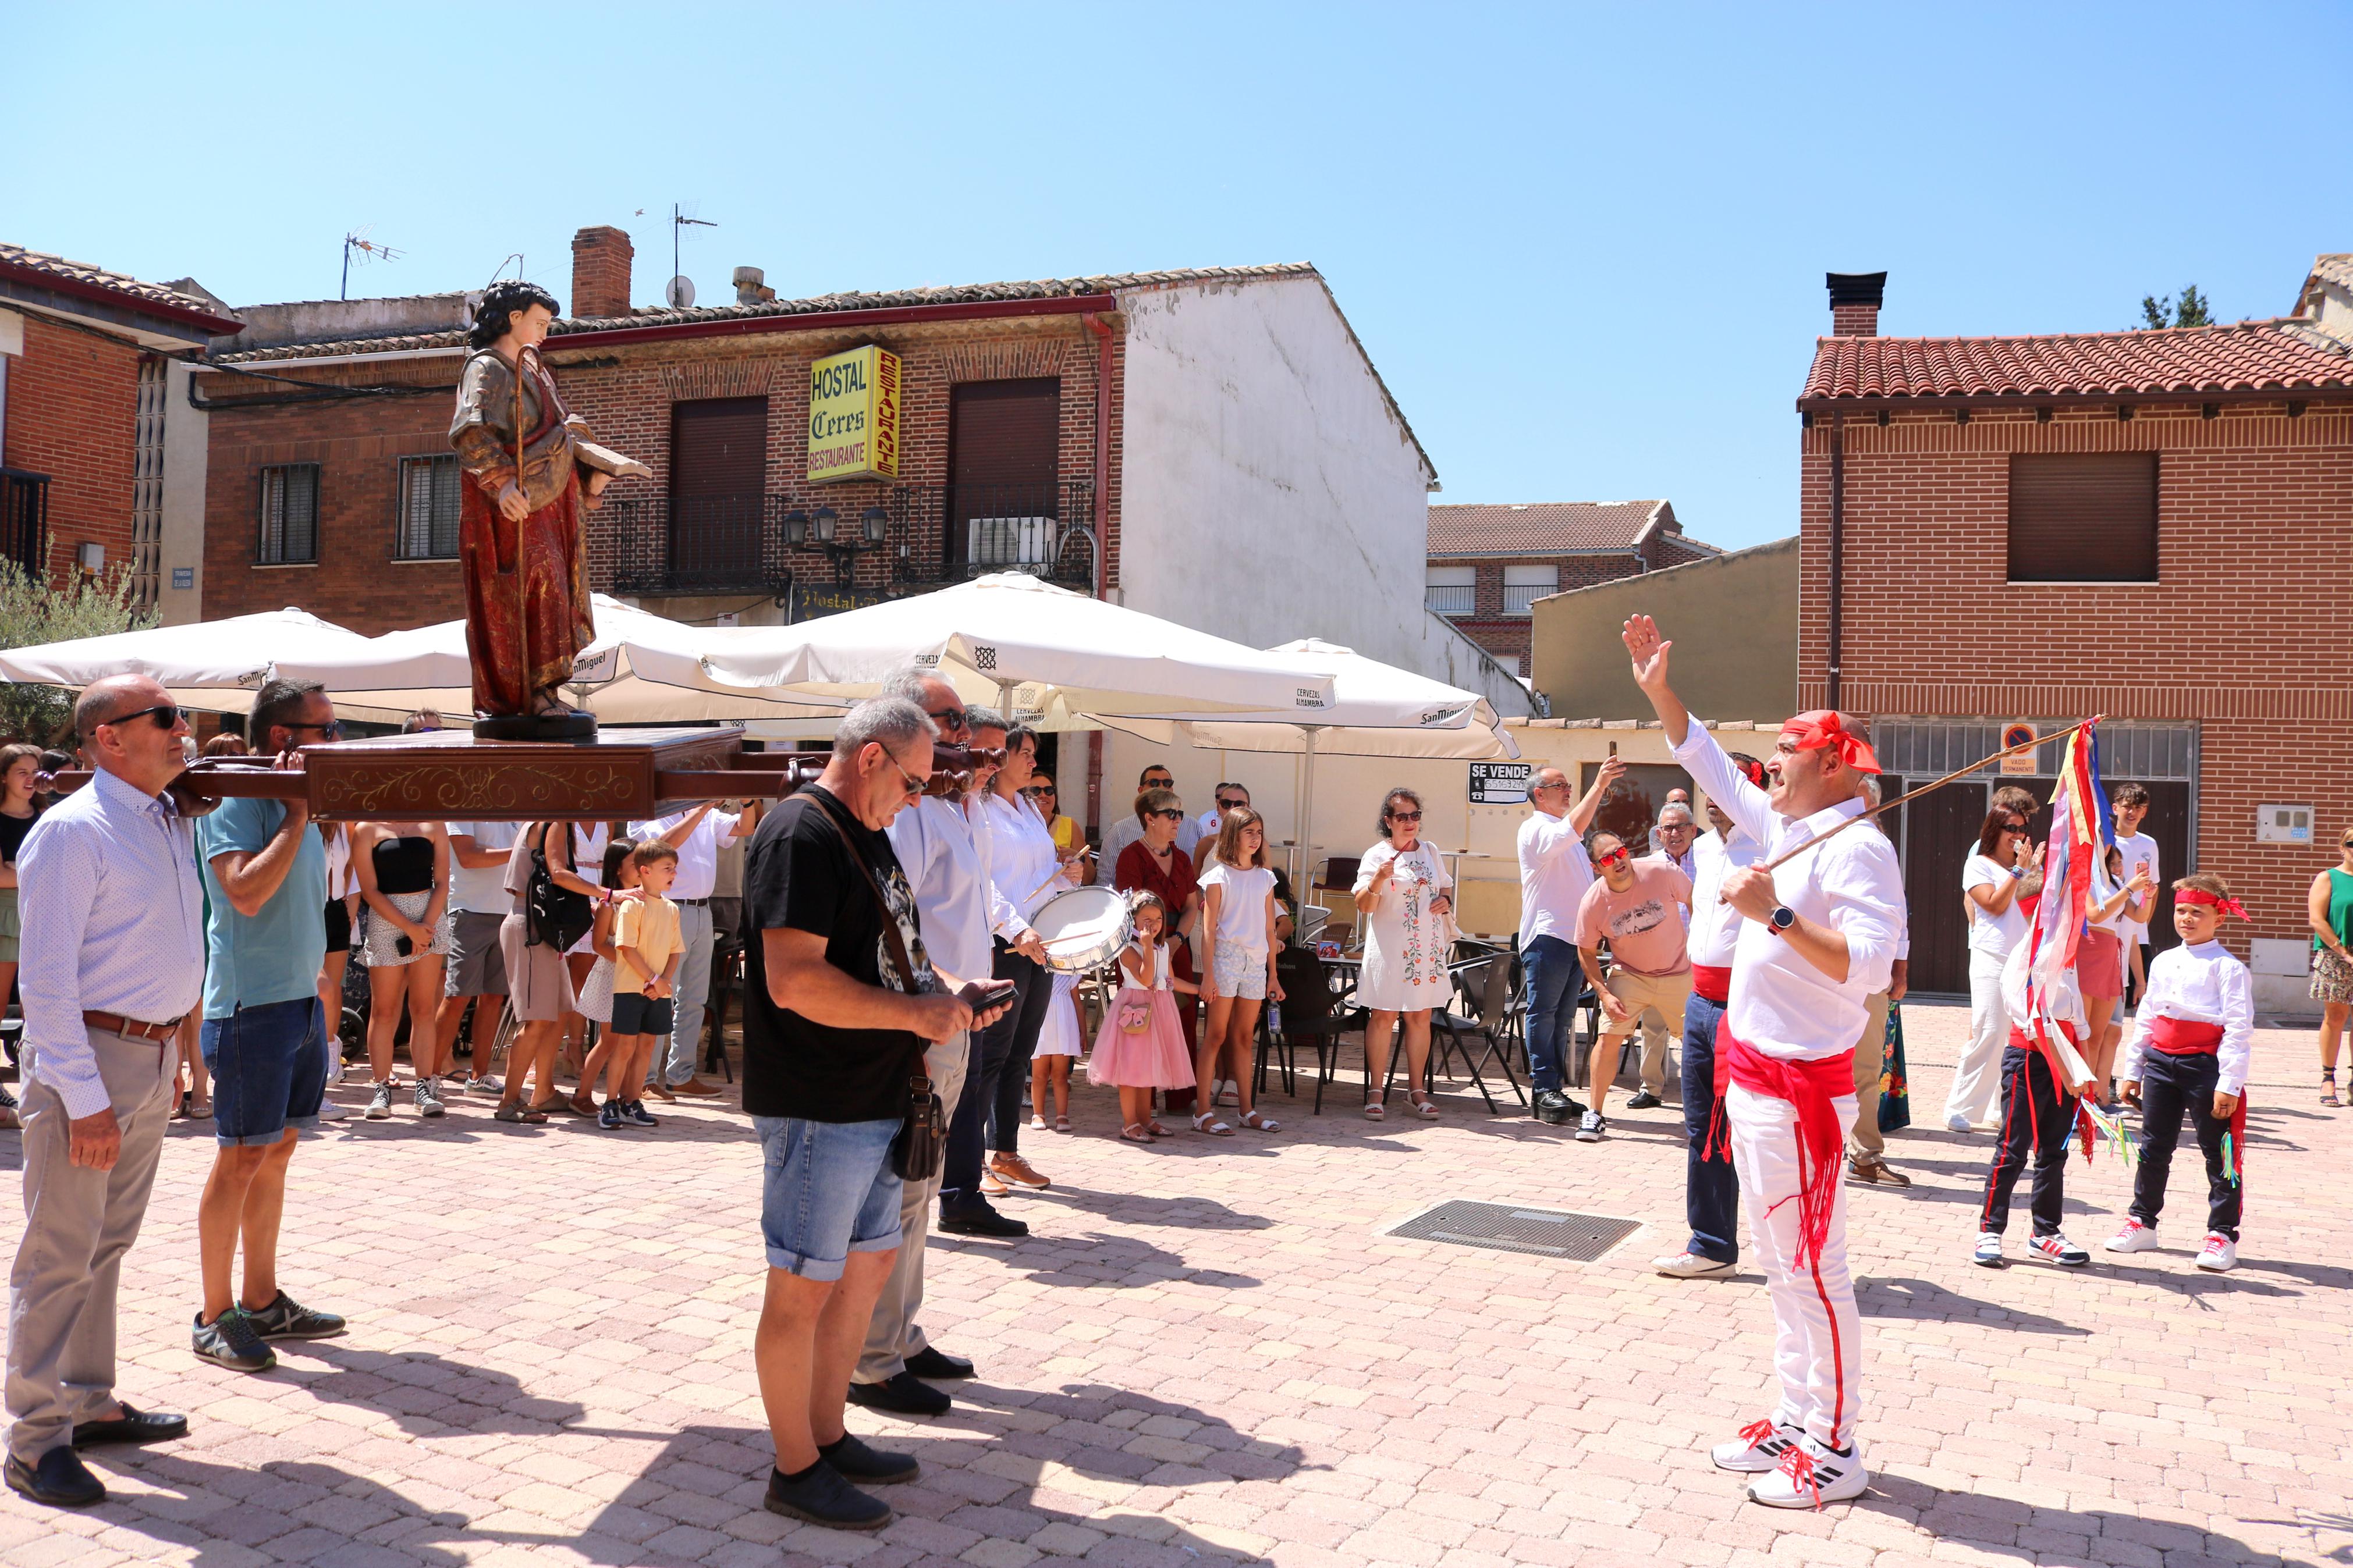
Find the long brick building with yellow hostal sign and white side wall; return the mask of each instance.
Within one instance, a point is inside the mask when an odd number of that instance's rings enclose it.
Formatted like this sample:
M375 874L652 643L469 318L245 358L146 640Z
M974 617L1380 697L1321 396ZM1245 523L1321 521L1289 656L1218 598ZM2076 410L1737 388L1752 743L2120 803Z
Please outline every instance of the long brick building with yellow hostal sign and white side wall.
M654 470L591 515L600 590L748 625L1033 571L1529 708L1421 611L1435 470L1311 266L798 301L736 268L736 303L682 310L631 308L631 289L628 235L581 230L546 343L569 407ZM299 604L365 632L459 616L447 428L468 299L240 315L198 374L202 614ZM812 367L864 348L896 355L896 475L814 480Z

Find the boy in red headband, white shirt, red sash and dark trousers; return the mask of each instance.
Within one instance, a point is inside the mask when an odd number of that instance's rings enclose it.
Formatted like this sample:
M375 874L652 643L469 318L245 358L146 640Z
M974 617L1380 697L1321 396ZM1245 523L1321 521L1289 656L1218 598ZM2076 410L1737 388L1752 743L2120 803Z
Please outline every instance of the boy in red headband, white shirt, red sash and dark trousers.
M2238 1265L2238 1218L2247 1161L2247 1056L2254 1044L2254 980L2214 933L2224 914L2247 919L2228 884L2198 872L2174 884L2174 931L2181 945L2148 964L2148 994L2125 1037L2125 1105L2141 1107L2141 1168L2132 1175L2125 1229L2108 1237L2111 1253L2158 1246L2165 1178L2181 1140L2181 1112L2198 1128L2207 1157L2207 1239L2200 1269Z

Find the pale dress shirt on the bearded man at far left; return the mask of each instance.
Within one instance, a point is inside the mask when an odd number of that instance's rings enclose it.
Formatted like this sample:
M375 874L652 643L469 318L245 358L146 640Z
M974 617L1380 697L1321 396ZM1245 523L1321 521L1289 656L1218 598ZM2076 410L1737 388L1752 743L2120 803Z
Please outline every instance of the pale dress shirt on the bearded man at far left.
M82 1013L172 1023L205 992L193 823L101 769L33 823L16 889L26 1070L66 1117L96 1117L108 1095Z

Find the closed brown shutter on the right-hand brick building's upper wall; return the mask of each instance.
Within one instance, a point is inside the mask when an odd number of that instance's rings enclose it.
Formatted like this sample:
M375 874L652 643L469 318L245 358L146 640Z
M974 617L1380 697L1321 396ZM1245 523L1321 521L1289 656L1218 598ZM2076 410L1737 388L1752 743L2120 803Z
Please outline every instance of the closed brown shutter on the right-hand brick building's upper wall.
M2012 583L2155 583L2158 454L2009 458Z

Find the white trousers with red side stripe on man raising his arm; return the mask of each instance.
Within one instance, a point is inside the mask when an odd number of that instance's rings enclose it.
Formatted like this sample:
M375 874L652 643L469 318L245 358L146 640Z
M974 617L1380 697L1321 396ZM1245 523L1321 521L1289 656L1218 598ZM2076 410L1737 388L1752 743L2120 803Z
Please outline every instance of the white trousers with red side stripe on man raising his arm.
M1854 1095L1840 1095L1838 1126L1854 1124ZM1802 1427L1819 1443L1854 1443L1861 1394L1864 1324L1847 1274L1847 1182L1840 1171L1831 1234L1821 1258L1798 1267L1798 1107L1732 1084L1725 1091L1732 1171L1741 1180L1748 1244L1772 1298L1774 1371L1781 1373L1777 1422ZM1833 1150L1831 1159L1845 1159Z

